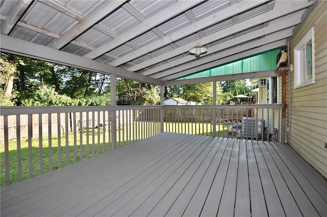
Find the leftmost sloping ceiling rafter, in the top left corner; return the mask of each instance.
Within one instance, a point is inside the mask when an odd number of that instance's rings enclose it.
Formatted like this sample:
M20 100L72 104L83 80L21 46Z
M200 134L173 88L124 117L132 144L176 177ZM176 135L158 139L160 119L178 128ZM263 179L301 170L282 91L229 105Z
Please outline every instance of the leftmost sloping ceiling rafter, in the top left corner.
M5 21L1 23L1 33L8 35L14 28L18 19L24 14L26 9L30 6L32 0L19 0L11 8Z

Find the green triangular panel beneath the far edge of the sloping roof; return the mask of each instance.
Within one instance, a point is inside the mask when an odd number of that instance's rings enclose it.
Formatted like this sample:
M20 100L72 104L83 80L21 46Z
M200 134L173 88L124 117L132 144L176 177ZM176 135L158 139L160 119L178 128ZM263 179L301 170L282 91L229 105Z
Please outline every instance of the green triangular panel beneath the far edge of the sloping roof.
M191 75L183 76L174 80L185 80L194 78L205 78L212 76L235 75L242 73L253 73L256 71L267 71L276 69L277 54L281 51L280 47L272 49L251 57L226 63L215 68L199 71Z

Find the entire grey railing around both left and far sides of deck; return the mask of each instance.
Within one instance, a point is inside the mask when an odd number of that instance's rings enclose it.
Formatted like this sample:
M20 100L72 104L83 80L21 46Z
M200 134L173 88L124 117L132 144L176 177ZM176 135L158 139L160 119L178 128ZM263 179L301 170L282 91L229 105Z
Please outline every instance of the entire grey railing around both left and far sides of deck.
M1 186L160 132L279 141L285 131L281 124L282 108L282 105L2 107ZM250 123L249 127L244 128L244 122Z

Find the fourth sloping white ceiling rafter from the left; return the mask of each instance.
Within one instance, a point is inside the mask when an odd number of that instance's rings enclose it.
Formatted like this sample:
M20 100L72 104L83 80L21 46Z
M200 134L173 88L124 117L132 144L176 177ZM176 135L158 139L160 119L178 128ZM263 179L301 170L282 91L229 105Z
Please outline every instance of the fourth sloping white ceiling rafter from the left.
M125 62L128 62L130 60L133 60L137 57L141 57L142 55L145 55L151 51L154 51L156 49L159 49L162 46L168 45L170 44L172 41L176 41L178 39L183 38L186 35L190 35L192 33L195 33L197 31L200 31L206 27L209 27L211 25L214 25L215 23L222 21L232 15L241 13L245 10L250 9L251 7L255 7L259 4L262 4L263 2L260 1L242 1L238 4L235 4L233 6L230 6L228 8L222 9L212 15L209 15L199 21L196 21L194 23L192 23L189 26L186 26L180 30L178 30L177 32L171 33L168 36L154 41L144 47L141 47L140 49L129 53L128 55L125 55L119 59L116 59L114 61L112 61L110 64L114 65L114 66L118 66L121 65ZM186 15L188 15L186 13ZM190 15L190 14L189 14ZM189 17L189 16L188 16ZM189 17L190 18L190 17ZM192 20L191 20L192 21ZM202 36L201 36L202 37ZM207 44L207 43L206 43ZM193 45L194 46L194 45ZM185 52L185 51L184 51ZM183 52L182 52L183 53ZM128 70L133 70L133 69L128 69Z

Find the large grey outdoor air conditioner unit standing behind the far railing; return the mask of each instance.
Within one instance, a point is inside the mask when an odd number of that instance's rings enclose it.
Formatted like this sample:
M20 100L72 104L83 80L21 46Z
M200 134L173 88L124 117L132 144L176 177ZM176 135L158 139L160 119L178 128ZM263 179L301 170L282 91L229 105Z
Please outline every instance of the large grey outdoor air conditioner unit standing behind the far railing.
M242 136L244 138L256 138L262 134L265 127L265 120L256 117L243 117Z

